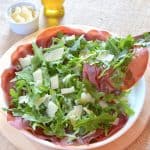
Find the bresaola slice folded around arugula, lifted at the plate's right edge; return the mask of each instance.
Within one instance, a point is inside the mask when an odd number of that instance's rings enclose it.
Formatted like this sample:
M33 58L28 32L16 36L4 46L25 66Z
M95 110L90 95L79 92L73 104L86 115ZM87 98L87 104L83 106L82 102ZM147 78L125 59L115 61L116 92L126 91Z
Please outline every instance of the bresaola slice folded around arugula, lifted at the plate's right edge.
M148 64L148 49L135 48L135 55L128 65L123 85L118 89L115 88L111 81L113 70L109 69L104 76L100 77L102 69L96 65L83 65L83 79L88 79L96 88L105 93L111 93L116 90L130 89L143 76Z

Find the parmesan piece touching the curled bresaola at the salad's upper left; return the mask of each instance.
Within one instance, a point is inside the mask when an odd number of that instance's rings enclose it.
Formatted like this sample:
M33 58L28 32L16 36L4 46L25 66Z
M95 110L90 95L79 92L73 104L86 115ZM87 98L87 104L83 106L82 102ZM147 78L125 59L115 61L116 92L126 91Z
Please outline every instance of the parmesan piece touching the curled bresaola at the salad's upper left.
M29 65L31 65L31 59L32 59L33 56L31 55L27 55L26 57L24 58L20 58L19 59L19 62L20 62L20 65L22 68L25 68Z

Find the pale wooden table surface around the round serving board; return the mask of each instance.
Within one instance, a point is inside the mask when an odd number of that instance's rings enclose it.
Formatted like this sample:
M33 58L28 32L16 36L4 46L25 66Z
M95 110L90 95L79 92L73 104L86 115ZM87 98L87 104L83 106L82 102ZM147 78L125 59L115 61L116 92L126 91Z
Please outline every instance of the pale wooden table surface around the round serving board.
M24 36L10 31L5 20L7 6L16 0L1 0L0 56ZM35 0L36 3L39 0ZM40 2L39 2L40 3ZM61 24L84 24L109 30L118 35L140 34L150 31L149 0L66 0L65 16ZM41 20L43 17L41 16ZM40 28L46 25L42 21ZM0 134L0 150L16 148ZM142 135L127 150L150 149L150 121Z

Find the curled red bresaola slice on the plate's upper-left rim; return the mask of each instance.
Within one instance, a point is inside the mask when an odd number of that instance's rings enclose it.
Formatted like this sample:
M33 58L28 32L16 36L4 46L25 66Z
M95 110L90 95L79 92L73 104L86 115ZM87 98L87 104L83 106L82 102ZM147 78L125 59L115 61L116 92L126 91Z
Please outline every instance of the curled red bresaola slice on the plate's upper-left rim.
M19 58L23 58L26 55L32 55L32 44L20 45L16 51L11 55L11 62L13 65L18 64Z

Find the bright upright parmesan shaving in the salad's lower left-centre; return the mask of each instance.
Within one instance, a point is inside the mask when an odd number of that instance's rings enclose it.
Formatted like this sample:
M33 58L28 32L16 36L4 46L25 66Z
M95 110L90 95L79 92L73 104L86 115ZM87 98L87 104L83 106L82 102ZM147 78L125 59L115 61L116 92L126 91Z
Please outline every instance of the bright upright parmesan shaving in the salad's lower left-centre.
M58 106L54 102L50 101L48 103L48 107L47 107L48 116L51 117L51 118L54 118L55 113L57 112L57 110L58 110Z

